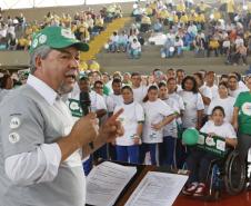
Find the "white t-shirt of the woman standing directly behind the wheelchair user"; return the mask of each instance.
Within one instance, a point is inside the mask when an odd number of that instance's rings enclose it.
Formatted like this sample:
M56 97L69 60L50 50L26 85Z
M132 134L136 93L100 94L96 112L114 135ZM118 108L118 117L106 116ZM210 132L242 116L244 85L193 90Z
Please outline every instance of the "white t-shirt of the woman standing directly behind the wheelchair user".
M235 102L235 98L228 97L225 99L221 99L220 97L213 99L209 105L208 115L212 115L212 110L217 106L221 106L224 109L225 118L224 120L231 122L233 117L233 105Z

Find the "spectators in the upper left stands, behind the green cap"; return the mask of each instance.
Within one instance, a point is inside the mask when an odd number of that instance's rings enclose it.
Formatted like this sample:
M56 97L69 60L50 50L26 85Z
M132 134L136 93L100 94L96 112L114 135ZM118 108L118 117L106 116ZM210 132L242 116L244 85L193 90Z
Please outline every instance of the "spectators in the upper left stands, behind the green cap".
M101 8L99 12L88 8L73 16L49 11L42 21L28 21L23 13L7 18L0 13L0 50L29 50L32 33L50 26L70 29L77 39L89 42L92 37L104 30L106 23L121 17L121 7L116 3Z

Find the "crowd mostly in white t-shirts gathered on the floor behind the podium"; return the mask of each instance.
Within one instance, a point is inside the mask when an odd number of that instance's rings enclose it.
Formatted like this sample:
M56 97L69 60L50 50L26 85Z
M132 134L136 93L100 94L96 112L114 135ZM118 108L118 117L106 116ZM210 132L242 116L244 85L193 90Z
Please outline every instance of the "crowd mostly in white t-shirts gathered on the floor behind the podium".
M12 76L2 72L0 99L11 92L14 86L26 84L27 77L27 72ZM194 173L189 178L189 187L184 194L203 195L204 174L209 169L210 160L215 157L203 156L201 153L204 151L201 150L188 153L180 136L185 128L192 127L202 133L225 137L227 144L235 146L235 131L240 121L235 109L242 110L240 104L243 105L249 98L240 98L244 94L248 95L250 89L250 76L242 77L238 72L217 76L213 71L200 70L185 75L184 70L172 68L167 72L154 69L149 76L120 71L111 76L99 71L81 72L74 90L66 97L69 108L74 110L70 102L72 99L78 100L81 91L89 92L90 108L97 114L100 124L123 108L124 112L119 118L126 130L122 137L104 145L86 161L86 174L92 168L92 163L100 158L168 165L174 168L182 168L187 163L189 170ZM242 112L249 119L249 107L245 109L247 111ZM249 120L239 122L243 124L239 125L239 129L251 135L247 128ZM200 163L203 163L203 166ZM199 174L195 173L197 167L200 167Z

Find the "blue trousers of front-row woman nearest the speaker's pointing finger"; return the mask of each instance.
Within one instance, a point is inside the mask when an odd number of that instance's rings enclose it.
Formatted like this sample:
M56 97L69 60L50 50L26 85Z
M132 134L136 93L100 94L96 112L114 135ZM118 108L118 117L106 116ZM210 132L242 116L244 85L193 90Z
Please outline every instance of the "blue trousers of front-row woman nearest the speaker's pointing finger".
M116 151L117 151L118 161L139 164L139 153L140 153L139 145L132 145L132 146L117 145Z

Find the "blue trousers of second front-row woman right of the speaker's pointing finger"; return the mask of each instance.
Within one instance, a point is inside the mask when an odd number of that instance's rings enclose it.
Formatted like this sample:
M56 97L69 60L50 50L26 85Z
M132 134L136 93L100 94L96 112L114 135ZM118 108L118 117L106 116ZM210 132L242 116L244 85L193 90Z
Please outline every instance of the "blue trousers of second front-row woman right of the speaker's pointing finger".
M151 164L157 165L157 146L158 144L145 144L143 143L140 147L140 164L144 163L145 154L150 151Z

